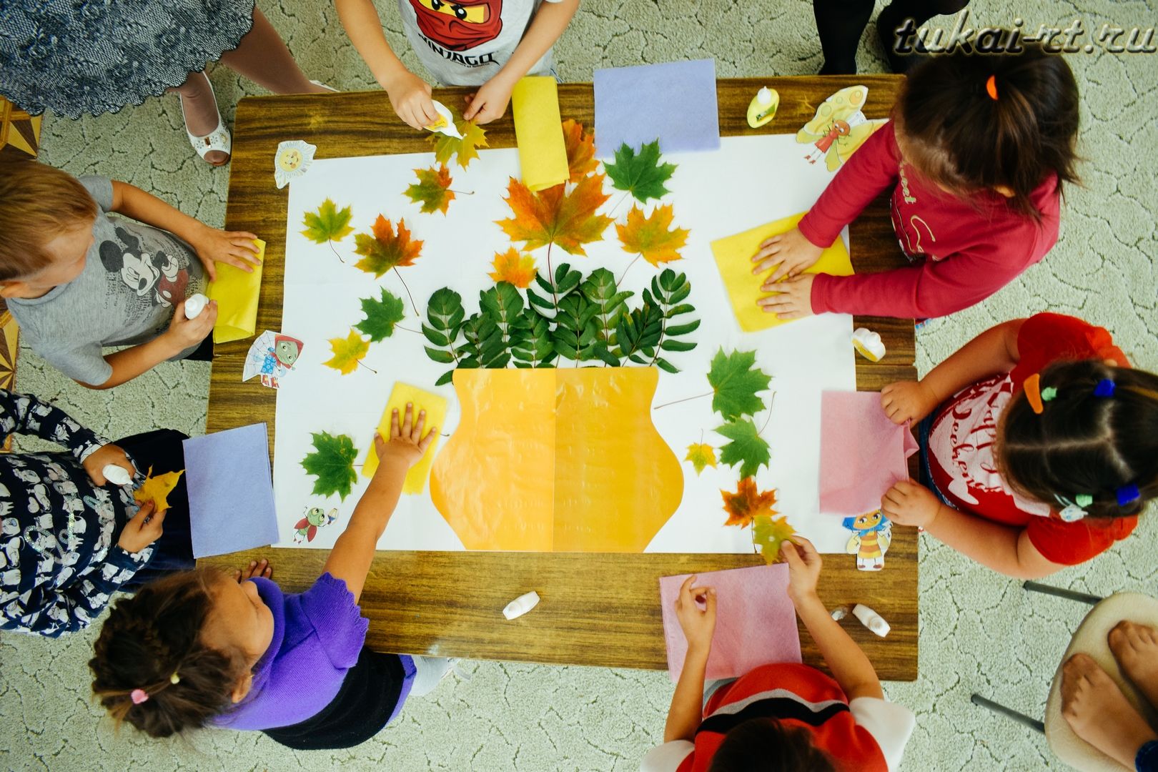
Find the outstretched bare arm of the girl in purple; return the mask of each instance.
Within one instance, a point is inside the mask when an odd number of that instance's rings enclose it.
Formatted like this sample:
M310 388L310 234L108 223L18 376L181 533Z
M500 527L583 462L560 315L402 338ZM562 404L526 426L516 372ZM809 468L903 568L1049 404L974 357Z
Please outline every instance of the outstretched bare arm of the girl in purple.
M325 567L322 568L335 579L346 582L346 588L354 595L354 603L361 597L378 539L386 531L386 524L398 503L406 472L423 457L438 431L437 426L432 426L423 436L425 421L424 410L418 413L418 421L413 422L413 405L406 403L406 416L401 427L397 407L390 416L390 441L387 442L381 434L374 436L374 450L380 461L378 470L371 478L369 487L358 500L354 514L350 515L350 524L334 544Z

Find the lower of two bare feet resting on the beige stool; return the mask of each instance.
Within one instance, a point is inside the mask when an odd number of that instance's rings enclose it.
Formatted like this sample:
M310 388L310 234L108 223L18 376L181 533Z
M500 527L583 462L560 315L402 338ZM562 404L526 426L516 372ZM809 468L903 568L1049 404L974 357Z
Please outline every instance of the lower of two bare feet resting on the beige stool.
M1138 749L1158 740L1089 654L1075 654L1062 666L1062 715L1078 737L1129 770Z

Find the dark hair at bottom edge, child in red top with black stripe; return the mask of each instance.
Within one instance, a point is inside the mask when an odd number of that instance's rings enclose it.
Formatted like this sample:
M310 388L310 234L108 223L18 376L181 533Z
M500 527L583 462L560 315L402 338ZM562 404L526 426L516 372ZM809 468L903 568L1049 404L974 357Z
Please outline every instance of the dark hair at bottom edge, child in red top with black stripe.
M836 772L831 757L801 727L748 719L724 736L709 772Z

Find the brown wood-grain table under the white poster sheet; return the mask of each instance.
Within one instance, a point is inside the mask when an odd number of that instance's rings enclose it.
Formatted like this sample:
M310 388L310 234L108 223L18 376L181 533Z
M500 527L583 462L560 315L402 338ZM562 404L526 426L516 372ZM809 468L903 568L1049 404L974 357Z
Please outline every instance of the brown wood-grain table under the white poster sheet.
M769 78L719 82L720 133L756 133L745 120L752 96L761 86L780 94L776 119L763 132L794 132L813 117L833 91L863 83L868 87L865 115L888 115L901 79L893 75L856 78ZM467 89L446 89L438 98L461 104ZM564 118L594 125L592 87L559 87ZM514 147L514 124L507 117L486 126L490 147ZM334 96L249 97L237 105L226 228L251 230L266 241L258 330L281 329L288 191L273 184L278 142L303 139L317 145L317 157L417 153L430 149L426 139L403 125L382 91ZM865 209L852 225L852 263L858 272L904 265L888 218L887 197ZM880 332L888 355L873 365L857 358L857 388L879 390L901 378L914 378L911 319L857 318ZM210 382L208 432L265 421L273 455L277 394L242 383L241 372L251 340L218 346ZM302 590L320 574L328 551L262 549L221 556L204 564L227 567L267 557L286 589ZM666 669L658 579L668 574L760 565L745 554L593 554L526 552L398 552L380 551L361 596L371 619L367 642L381 650L525 660L545 663ZM500 611L528 589L543 601L534 612L506 622ZM829 608L865 603L893 627L879 639L855 620L845 623L882 678L917 677L917 537L913 529L893 531L886 568L858 572L851 556L826 559L820 595ZM805 661L820 664L811 637L801 628Z

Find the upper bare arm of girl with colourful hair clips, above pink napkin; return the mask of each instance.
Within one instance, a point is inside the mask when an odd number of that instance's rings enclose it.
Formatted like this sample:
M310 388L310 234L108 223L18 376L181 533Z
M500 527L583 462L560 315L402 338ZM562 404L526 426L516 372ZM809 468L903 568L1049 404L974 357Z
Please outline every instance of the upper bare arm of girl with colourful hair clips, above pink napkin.
M880 406L893 422L917 422L937 405L965 387L998 373L1009 373L1020 361L1018 333L1025 319L991 326L961 346L919 381L897 381L880 392Z

